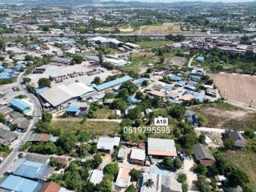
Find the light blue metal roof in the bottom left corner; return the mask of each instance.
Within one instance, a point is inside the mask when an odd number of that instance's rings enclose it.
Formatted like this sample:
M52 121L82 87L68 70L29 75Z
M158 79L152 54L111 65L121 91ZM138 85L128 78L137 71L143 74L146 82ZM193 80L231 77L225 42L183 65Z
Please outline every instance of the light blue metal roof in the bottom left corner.
M1 189L18 192L38 192L41 187L42 184L39 182L34 182L30 179L21 178L14 175L10 175L0 185Z

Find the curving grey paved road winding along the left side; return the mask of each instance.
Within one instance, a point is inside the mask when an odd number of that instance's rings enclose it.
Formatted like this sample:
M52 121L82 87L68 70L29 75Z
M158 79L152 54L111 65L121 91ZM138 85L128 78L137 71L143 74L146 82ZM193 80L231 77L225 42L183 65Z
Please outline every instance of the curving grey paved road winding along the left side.
M12 152L6 157L6 159L0 164L0 176L4 174L10 165L11 162L14 161L15 158L18 157L18 150L21 148L22 144L25 143L28 138L30 138L30 134L32 133L32 128L34 125L38 122L38 120L42 116L42 107L40 102L38 101L38 98L34 96L34 94L30 94L27 92L25 87L22 85L22 79L24 77L24 73L20 74L18 76L18 87L22 91L22 94L25 94L33 103L34 105L34 112L33 112L33 119L30 122L30 126L26 130L26 133L22 134L19 138L18 145L14 147Z

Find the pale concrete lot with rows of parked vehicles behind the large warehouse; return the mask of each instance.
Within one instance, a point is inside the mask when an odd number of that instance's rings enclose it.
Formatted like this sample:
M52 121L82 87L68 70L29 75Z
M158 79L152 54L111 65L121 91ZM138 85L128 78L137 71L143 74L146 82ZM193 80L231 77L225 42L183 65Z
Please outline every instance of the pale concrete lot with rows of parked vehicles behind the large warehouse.
M33 82L36 86L38 85L39 78L49 78L50 76L60 80L58 83L53 81L51 85L57 86L61 84L68 85L71 82L82 82L86 85L90 85L90 83L97 76L102 80L105 80L109 75L113 75L113 70L106 70L99 66L95 67L92 66L89 62L82 62L81 64L74 66L46 65L44 67L46 67L46 71L43 74L28 75L28 78L31 78L31 82ZM97 69L97 72L95 72L94 69Z

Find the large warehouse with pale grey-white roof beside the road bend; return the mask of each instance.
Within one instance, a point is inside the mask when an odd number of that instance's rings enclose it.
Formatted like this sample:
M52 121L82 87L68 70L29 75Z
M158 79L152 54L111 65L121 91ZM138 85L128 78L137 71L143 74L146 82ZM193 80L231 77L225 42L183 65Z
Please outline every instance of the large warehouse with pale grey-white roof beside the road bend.
M97 94L97 92L90 86L86 86L82 82L74 82L67 86L54 86L42 91L39 95L45 102L55 108L71 100L86 98L86 96L92 96L93 94Z

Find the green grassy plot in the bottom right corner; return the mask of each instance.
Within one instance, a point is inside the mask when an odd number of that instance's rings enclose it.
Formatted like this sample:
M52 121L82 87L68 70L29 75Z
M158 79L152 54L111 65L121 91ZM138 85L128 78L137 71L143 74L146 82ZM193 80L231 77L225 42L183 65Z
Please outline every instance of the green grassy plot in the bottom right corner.
M250 186L256 189L256 154L252 152L245 152L241 150L226 151L224 156L237 166L241 167L250 178Z

